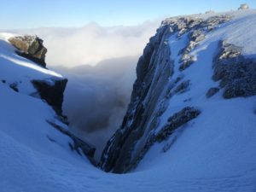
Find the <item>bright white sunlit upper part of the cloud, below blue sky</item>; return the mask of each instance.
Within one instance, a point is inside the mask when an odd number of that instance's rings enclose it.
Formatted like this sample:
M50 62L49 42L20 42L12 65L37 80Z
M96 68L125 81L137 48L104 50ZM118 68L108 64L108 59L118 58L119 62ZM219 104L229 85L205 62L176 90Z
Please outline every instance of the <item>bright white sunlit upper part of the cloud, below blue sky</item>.
M142 53L148 38L160 21L147 21L138 26L99 26L90 23L80 28L40 28L21 30L37 34L48 49L50 66L75 67Z

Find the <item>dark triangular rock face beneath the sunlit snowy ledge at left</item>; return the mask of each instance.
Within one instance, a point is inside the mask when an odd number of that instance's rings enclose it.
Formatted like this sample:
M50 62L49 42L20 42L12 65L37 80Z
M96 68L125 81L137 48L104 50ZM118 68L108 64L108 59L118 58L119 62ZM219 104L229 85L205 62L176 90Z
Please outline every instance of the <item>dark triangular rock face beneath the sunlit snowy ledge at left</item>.
M57 114L62 113L63 93L67 79L53 79L52 82L44 80L32 80L32 84L38 90L39 96L44 99Z

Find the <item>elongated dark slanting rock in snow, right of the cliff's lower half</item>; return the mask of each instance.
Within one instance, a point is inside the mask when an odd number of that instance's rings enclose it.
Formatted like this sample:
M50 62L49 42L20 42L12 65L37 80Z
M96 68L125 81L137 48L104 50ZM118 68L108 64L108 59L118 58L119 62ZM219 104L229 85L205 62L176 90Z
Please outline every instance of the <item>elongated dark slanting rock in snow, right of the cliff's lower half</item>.
M172 134L172 131L195 119L200 113L201 111L197 108L183 108L168 119L168 123L155 136L155 140L159 143L166 140Z

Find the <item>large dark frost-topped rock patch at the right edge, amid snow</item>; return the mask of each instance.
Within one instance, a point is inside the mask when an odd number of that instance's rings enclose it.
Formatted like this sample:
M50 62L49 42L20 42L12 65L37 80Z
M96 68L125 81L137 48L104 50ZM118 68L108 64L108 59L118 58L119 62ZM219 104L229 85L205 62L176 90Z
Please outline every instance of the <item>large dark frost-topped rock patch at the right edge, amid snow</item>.
M220 80L224 98L256 95L256 62L241 55L241 48L220 42L212 79Z

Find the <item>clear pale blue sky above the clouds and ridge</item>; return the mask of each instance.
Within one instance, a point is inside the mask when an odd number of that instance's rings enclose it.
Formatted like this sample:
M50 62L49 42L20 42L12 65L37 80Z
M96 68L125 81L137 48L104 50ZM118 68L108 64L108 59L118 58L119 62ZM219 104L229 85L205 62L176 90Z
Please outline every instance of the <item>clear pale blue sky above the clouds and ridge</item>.
M256 8L255 0L1 0L0 28L137 25L173 15Z

